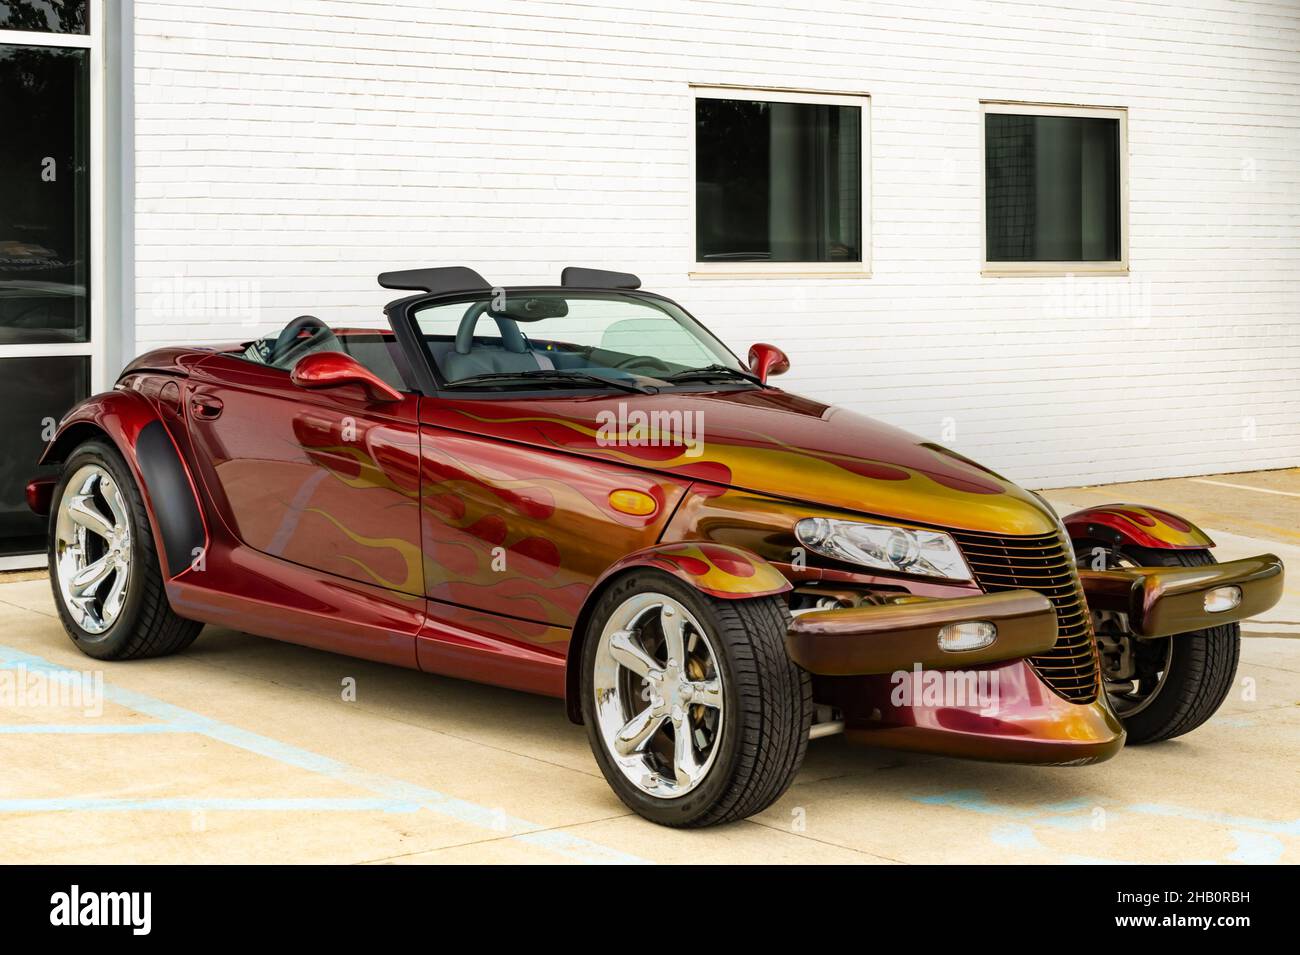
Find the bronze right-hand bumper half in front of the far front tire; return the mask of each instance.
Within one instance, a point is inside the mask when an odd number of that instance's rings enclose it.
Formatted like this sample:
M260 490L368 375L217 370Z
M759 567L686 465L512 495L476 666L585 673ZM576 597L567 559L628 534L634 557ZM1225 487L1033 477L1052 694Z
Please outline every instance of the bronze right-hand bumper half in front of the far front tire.
M1156 638L1264 613L1282 599L1284 572L1278 557L1261 554L1205 567L1080 570L1079 579L1093 611L1124 613L1135 635ZM1240 602L1225 611L1206 611L1206 594L1219 587L1240 590Z

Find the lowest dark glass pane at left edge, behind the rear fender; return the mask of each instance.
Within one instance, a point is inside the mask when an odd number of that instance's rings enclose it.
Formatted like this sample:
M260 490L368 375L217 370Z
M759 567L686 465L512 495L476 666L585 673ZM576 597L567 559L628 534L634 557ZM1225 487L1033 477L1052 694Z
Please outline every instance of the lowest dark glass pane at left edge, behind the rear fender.
M0 556L46 548L46 518L27 509L25 489L53 425L90 394L90 359L79 355L0 359Z

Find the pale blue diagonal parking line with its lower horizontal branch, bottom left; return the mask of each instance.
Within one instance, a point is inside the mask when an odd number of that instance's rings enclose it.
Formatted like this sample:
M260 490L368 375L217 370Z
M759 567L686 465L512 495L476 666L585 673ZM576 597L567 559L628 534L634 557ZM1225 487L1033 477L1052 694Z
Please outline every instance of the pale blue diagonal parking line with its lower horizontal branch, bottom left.
M72 670L43 657L25 654L13 647L0 646L0 668L10 669L23 667L34 673L60 680L81 677L78 670ZM384 812L416 812L429 809L458 822L504 833L503 838L521 842L538 848L575 859L582 863L615 863L615 864L646 864L649 860L623 852L608 846L602 846L590 839L571 833L545 829L516 816L511 816L500 809L481 806L467 799L450 796L425 786L417 786L404 780L370 773L356 767L351 767L339 760L324 756L309 750L304 750L290 743L264 737L240 729L221 720L196 713L191 709L174 706L165 700L148 696L134 690L113 686L105 682L103 687L104 702L126 707L143 716L153 717L160 724L130 724L127 732L159 732L159 733L196 733L209 739L216 739L229 746L235 746L247 752L265 756L283 765L304 769L330 778L342 785L363 789L376 794L378 798L367 799L4 799L0 800L0 811L5 812L73 812L78 809L88 811L199 811L199 809L280 809L280 811L348 811L348 809L380 809ZM157 725L166 729L142 730L139 726ZM14 730L17 732L17 730ZM12 807L12 808L10 808ZM523 832L519 832L523 830ZM512 833L512 834L510 834Z

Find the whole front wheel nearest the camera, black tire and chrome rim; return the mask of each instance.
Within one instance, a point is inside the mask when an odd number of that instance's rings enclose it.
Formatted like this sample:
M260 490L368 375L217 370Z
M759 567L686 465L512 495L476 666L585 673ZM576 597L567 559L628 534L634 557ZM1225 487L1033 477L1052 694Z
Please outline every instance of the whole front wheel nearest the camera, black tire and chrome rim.
M592 751L629 808L668 826L766 809L803 763L809 674L785 652L780 598L720 600L633 570L597 602L582 646Z

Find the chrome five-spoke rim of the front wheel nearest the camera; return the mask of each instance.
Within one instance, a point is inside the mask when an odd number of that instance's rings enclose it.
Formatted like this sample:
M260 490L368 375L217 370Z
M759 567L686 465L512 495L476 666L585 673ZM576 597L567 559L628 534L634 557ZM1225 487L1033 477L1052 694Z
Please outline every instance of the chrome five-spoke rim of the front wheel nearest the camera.
M640 791L676 799L718 758L723 676L708 631L676 598L636 594L604 622L592 690L606 752Z

